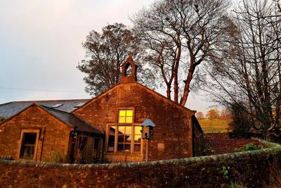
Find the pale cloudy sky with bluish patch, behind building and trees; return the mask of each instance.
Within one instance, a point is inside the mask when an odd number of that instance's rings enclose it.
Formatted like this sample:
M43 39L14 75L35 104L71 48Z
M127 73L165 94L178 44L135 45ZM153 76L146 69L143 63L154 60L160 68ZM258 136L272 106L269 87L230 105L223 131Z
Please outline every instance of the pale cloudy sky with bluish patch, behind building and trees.
M0 104L9 101L90 99L76 67L91 30L129 16L154 0L1 0ZM157 89L165 94L163 89ZM206 113L212 104L191 94L187 107Z

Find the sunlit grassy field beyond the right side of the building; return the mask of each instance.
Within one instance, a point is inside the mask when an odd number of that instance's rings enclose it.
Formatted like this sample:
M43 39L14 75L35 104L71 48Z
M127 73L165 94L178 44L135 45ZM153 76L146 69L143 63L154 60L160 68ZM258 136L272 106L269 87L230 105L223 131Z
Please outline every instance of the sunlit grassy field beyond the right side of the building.
M205 133L230 132L228 124L231 122L231 119L203 119L198 121Z

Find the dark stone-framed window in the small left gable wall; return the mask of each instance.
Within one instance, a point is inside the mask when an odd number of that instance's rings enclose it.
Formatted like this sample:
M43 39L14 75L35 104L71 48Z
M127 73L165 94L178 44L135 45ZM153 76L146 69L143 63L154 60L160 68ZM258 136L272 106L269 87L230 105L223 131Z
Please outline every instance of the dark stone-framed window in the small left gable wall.
M39 130L22 130L20 156L23 159L34 159L37 152Z

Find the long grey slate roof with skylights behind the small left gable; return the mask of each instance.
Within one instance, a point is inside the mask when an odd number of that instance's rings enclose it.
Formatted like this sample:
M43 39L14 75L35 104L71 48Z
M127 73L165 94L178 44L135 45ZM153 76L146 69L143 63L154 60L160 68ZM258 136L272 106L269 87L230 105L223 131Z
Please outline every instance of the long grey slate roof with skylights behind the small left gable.
M31 104L40 104L43 106L51 107L55 106L56 104L63 104L62 106L59 106L58 108L55 108L59 111L65 111L65 112L72 112L75 108L74 106L77 106L81 103L86 103L90 99L71 99L71 100L52 100L52 101L13 101L6 104L0 104L0 116L4 118L9 118L16 113L19 113L23 109L27 108L27 106L30 106Z

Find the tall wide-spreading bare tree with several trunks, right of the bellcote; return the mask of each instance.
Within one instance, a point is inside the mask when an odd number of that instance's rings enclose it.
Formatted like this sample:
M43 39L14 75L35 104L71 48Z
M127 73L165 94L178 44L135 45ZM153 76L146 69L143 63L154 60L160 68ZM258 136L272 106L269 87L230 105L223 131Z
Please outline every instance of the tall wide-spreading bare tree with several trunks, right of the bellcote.
M174 85L174 101L185 106L197 66L218 54L231 27L228 5L227 0L161 0L131 18L169 99Z

